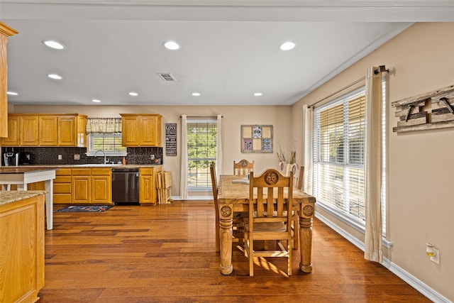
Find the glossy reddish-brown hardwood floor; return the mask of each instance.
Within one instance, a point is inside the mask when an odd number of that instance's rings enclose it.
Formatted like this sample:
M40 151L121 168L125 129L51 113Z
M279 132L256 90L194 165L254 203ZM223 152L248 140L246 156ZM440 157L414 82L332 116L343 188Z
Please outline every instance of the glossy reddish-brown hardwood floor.
M292 277L285 258L260 261L249 277L234 248L234 270L221 275L211 203L54 213L38 302L431 302L318 220L312 273L294 253Z

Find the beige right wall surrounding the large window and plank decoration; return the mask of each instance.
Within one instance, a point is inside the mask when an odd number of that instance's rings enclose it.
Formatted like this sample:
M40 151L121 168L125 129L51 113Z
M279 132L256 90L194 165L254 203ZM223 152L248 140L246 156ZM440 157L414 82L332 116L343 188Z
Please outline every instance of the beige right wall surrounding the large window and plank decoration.
M454 300L454 128L393 133L397 119L390 104L453 85L453 50L454 23L416 23L301 99L292 110L295 119L303 104L359 79L367 67L391 69L387 78L387 233L393 246L387 258L450 300ZM301 131L295 128L292 135ZM440 265L426 256L427 242L440 249Z

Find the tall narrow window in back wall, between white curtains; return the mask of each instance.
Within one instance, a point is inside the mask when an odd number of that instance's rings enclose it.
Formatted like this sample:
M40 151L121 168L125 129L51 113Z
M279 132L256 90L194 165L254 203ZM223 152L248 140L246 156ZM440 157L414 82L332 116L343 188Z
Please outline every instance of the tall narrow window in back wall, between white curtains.
M216 162L216 119L187 119L187 187L211 190L209 163Z

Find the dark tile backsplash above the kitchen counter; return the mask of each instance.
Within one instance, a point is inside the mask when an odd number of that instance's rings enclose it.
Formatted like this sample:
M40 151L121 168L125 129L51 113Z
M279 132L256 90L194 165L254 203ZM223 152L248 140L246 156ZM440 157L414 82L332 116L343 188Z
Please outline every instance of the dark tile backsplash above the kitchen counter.
M38 165L77 165L89 163L102 163L104 155L98 153L96 157L87 157L87 148L48 148L48 147L20 147L1 148L1 155L6 151L30 154L30 164ZM126 164L162 164L162 148L126 148ZM61 155L62 160L58 159ZM74 160L74 155L79 155L79 160ZM152 160L153 156L155 160ZM121 163L123 157L109 157L114 163ZM3 162L3 159L2 159Z

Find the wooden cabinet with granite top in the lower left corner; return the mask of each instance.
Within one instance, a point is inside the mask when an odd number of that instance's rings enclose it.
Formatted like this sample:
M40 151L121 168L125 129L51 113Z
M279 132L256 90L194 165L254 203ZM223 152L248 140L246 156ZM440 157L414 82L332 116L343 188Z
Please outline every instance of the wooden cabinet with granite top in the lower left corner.
M36 302L44 286L45 191L0 192L0 302Z

